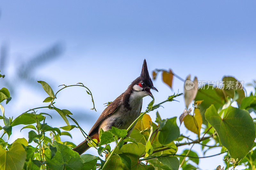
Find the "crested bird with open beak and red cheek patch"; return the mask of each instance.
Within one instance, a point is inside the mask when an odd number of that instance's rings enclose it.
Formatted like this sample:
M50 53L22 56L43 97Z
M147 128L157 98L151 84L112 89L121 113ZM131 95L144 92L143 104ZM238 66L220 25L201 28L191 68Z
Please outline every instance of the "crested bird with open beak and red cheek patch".
M88 133L88 136L92 139L97 139L97 141L100 142L100 129L108 131L112 126L118 129L127 129L132 122L140 116L142 98L150 96L154 99L150 92L151 89L158 92L149 76L147 62L146 59L144 59L140 76L132 81L127 90L110 103L101 113L100 117ZM134 126L132 129L133 128ZM131 134L132 129L127 132L127 137ZM76 151L81 155L89 148L90 146L88 145L87 140L84 140L73 148L73 151Z

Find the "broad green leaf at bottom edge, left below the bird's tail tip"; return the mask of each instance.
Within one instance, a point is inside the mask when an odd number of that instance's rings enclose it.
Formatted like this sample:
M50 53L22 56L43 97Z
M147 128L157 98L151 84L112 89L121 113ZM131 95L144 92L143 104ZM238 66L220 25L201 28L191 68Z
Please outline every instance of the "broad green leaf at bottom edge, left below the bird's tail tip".
M63 169L81 169L83 167L82 160L79 154L68 146L60 144L56 141L52 144L53 147L57 148L55 156L51 159L51 150L47 149L44 151L45 159L50 169L63 170Z

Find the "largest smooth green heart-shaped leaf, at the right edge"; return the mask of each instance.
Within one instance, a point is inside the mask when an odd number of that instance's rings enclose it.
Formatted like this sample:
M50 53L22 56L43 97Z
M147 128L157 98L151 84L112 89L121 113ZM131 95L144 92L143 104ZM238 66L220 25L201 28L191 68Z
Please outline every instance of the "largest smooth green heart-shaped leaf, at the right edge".
M212 105L205 112L206 120L216 130L220 143L228 149L231 157L242 159L252 148L255 127L249 112L229 106L220 112Z

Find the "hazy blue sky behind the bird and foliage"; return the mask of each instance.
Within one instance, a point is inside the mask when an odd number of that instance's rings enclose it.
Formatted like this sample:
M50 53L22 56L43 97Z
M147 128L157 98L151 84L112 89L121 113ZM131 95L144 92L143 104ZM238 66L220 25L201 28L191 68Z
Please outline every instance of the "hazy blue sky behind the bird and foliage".
M15 75L21 63L56 42L63 49L59 58L31 65L35 68L31 74L49 82L55 91L58 85L77 82L91 89L96 113L89 110L92 104L82 89L63 91L56 102L77 112L74 115L79 114L87 131L104 110L103 103L114 100L139 76L144 58L150 72L171 68L182 78L191 74L199 80L218 81L233 75L251 82L256 71L255 5L255 1L1 1L0 45L7 45L8 60L6 69L0 69L19 89L5 110L17 116L44 105L47 96L40 85L28 85ZM154 85L159 90L153 93L156 102L173 93L160 77ZM173 91L178 90L183 91L183 83L174 78ZM183 98L178 100L159 109L163 118L182 113ZM149 101L144 99L144 109ZM155 113L151 116L154 120ZM59 120L52 123L63 125L59 116L55 119ZM14 133L22 136L19 130ZM74 143L83 140L78 131L74 134ZM221 158L201 160L200 167L224 165Z

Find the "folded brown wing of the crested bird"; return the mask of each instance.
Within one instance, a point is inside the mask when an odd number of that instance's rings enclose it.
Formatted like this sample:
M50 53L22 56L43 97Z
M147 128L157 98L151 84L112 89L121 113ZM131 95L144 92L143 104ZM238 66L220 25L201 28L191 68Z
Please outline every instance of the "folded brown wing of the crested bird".
M123 97L124 93L122 93L119 97L117 97L112 103L108 105L108 107L101 113L100 117L98 120L94 123L92 126L92 129L89 132L89 136L95 134L96 132L98 133L99 130L99 125L106 119L108 118L111 114L115 113L115 111L120 107L121 105L121 100Z

